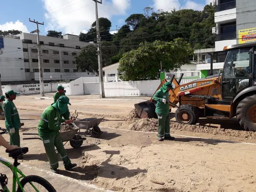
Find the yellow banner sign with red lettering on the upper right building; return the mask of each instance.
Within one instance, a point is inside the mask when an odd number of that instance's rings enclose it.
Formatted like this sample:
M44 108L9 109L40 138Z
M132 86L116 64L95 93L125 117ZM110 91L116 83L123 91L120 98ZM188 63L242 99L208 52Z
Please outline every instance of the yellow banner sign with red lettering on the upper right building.
M239 44L256 42L256 28L242 29L238 31Z

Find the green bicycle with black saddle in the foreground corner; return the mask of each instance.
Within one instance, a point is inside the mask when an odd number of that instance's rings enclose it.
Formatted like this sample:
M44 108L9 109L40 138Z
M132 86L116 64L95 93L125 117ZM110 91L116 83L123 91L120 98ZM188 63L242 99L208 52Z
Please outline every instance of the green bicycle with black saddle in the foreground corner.
M0 134L7 133L6 130L1 129L4 131ZM13 183L12 183L12 192L25 192L25 191L48 191L48 192L56 192L54 187L44 178L41 178L39 176L30 175L25 176L20 169L18 169L18 165L20 163L18 162L18 157L20 155L24 155L28 153L29 148L28 147L22 147L18 148L17 150L8 151L6 150L6 153L9 154L9 157L12 157L14 159L13 165L6 161L5 159L0 157L0 163L6 165L9 167L13 173ZM19 176L19 175L20 176ZM22 180L20 180L22 179ZM17 190L16 190L16 183L17 183ZM0 189L0 192L10 192L10 190L7 187L8 184L8 178L6 175L0 174L0 185L2 186L2 189Z

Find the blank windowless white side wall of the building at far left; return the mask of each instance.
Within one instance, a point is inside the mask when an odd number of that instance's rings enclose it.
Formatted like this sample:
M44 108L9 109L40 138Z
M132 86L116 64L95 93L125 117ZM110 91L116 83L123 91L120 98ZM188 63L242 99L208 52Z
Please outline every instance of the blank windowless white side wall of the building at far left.
M3 52L0 55L1 80L26 80L22 40L4 37Z

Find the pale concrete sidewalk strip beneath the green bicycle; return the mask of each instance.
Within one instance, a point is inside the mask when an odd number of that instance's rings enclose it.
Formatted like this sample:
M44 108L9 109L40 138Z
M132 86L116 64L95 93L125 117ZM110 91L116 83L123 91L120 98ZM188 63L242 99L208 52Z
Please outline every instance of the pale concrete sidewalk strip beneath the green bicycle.
M9 162L12 162L12 160L8 160ZM19 165L18 168L22 170L22 172L26 175L37 175L40 176L47 181L49 181L53 187L56 189L56 191L76 191L76 192L102 192L102 191L109 191L111 190L105 190L102 188L98 188L95 185L89 184L86 181L76 180L72 179L66 176L53 174L51 172L48 172L47 170L39 169L37 167L32 167L26 164ZM9 190L12 189L12 173L11 170L4 166L3 164L0 164L0 170L2 174L6 174L8 177L8 187Z

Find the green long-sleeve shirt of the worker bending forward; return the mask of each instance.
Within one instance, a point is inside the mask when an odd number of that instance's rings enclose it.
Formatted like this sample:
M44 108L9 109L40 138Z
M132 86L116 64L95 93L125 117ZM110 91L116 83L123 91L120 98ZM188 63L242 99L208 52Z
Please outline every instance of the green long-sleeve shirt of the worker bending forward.
M56 134L60 130L60 123L65 122L60 118L60 114L52 105L48 106L42 113L38 124L38 135L41 137Z

